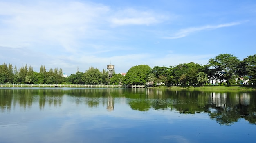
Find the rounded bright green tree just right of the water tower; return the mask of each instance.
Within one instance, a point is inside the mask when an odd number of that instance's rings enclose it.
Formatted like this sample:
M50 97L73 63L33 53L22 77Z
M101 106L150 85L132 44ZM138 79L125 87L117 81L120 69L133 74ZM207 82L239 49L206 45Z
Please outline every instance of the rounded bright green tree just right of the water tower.
M131 67L124 78L124 84L146 84L147 76L151 68L148 65L136 65Z

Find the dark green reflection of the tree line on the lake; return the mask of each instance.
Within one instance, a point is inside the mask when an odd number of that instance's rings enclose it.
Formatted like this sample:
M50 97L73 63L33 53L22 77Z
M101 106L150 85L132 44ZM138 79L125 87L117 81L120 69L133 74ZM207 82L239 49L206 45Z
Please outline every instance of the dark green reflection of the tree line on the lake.
M114 103L123 102L137 111L163 110L181 114L207 113L219 124L230 125L245 119L256 124L255 92L205 92L156 89L72 89L72 88L2 88L0 89L0 112L8 113L17 108L22 111L39 106L58 108L63 98L77 106L89 108L100 105L114 111ZM118 103L117 104L120 104ZM119 106L120 107L120 106Z

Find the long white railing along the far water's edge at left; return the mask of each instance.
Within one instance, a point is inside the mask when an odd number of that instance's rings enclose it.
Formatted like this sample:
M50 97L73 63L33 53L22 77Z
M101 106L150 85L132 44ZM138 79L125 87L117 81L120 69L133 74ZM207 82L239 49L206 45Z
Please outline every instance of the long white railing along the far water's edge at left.
M77 87L77 88L144 88L146 85L80 85L80 84L0 84L0 87Z

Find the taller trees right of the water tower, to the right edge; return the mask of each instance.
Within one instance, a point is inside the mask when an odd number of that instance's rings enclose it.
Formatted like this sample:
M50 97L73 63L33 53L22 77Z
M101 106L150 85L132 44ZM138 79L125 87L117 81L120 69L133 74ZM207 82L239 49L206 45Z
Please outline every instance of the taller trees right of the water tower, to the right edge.
M126 74L125 84L149 85L164 83L165 85L195 85L220 81L222 84L241 84L243 80L256 83L256 54L240 61L232 54L219 54L209 59L206 65L182 63L170 67L147 65L132 67Z

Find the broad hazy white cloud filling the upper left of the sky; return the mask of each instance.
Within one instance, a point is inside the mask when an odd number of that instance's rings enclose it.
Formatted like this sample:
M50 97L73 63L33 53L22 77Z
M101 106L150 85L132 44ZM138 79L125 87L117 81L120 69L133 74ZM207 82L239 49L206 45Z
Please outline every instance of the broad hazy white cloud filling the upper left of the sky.
M109 11L107 6L81 2L33 5L0 2L0 9L0 14L5 16L0 17L3 25L0 30L4 32L0 36L2 46L17 48L47 43L70 52L76 49L81 37L93 36L92 29Z

